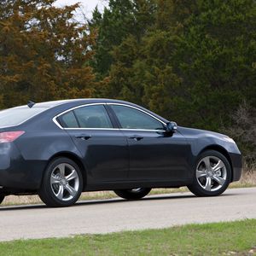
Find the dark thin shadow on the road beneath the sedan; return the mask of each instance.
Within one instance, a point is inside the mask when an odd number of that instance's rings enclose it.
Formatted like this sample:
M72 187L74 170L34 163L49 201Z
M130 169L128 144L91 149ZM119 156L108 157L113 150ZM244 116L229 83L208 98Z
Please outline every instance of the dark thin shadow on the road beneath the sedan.
M218 195L218 197L225 197L230 195L236 195L234 193L230 194L229 192L224 193L223 195ZM149 195L148 197L144 197L140 200L133 200L133 201L161 201L161 200L177 200L177 199L185 199L185 198L194 198L201 200L201 197L196 197L193 194L187 194L186 195L172 195L172 194L166 194L166 195ZM77 201L73 207L80 207L85 205L102 205L102 204L113 204L113 203L124 203L127 202L125 199L122 198L112 198L112 199L103 199L103 200L87 200L87 201ZM54 209L51 207L47 207L43 204L35 204L35 205L20 205L20 206L6 206L6 207L0 207L0 212L5 211L15 211L15 210L28 210L28 209Z

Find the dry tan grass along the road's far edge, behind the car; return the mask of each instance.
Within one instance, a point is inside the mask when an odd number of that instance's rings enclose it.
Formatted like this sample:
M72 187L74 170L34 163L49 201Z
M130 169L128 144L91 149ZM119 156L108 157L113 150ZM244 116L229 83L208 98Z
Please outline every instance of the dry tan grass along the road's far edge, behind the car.
M240 181L230 184L230 189L249 188L256 186L256 171L243 172ZM182 187L180 189L152 189L149 195L170 194L175 192L188 192L189 189ZM115 198L117 195L113 191L84 192L79 200L98 200ZM9 195L6 196L1 206L14 206L26 204L42 203L38 195Z

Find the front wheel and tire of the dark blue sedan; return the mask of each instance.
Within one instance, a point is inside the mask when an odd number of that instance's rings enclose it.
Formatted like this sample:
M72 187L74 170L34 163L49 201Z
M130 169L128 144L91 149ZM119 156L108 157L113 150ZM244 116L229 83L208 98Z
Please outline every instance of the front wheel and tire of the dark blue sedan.
M197 196L221 195L230 181L229 160L218 151L207 150L196 161L193 183L188 189Z

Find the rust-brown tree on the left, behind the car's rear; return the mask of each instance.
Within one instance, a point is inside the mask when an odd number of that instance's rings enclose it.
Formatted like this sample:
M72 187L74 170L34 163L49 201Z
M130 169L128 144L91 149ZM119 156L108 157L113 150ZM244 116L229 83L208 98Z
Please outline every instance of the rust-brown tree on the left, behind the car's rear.
M88 63L95 35L73 19L79 4L53 0L2 1L0 6L0 105L90 96Z

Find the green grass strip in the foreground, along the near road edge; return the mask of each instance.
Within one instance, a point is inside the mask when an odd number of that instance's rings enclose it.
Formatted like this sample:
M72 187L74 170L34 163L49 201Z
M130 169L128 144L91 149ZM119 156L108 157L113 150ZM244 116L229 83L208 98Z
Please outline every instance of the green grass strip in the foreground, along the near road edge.
M256 219L247 219L163 230L9 241L0 242L0 255L256 255L255 230Z

